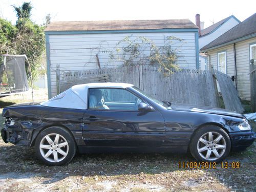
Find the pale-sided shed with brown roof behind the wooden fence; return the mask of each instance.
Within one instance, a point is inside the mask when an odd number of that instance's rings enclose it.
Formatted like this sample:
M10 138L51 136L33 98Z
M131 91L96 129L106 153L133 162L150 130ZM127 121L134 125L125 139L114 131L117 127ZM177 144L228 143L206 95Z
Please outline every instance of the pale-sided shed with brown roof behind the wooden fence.
M107 51L112 51L127 36L146 37L157 46L162 46L168 36L183 39L173 44L181 56L178 65L190 69L199 67L198 28L188 19L54 22L45 34L49 98L57 94L57 66L62 71L98 69L96 55L101 68L122 65L122 62L111 61Z

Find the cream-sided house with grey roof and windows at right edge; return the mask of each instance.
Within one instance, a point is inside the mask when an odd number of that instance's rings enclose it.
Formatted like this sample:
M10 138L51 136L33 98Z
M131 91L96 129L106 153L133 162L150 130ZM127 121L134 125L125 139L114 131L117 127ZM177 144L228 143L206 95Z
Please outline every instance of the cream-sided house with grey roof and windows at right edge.
M256 13L200 50L208 57L208 68L234 76L234 84L244 100L250 100L250 59L256 60L255 23Z

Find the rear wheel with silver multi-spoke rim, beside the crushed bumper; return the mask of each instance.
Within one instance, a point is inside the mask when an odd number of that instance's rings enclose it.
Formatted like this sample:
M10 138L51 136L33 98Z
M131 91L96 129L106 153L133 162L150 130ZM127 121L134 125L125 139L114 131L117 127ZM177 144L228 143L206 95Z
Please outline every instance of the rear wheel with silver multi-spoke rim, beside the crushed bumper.
M69 163L76 154L76 148L73 136L59 126L48 127L38 134L35 141L37 158L50 166Z

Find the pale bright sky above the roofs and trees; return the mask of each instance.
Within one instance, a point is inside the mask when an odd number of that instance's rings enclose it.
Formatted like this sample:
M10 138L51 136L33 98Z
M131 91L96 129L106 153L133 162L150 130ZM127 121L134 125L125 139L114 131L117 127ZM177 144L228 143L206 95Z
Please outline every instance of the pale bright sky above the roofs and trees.
M0 0L0 17L16 22L14 8L24 1ZM28 0L33 9L31 19L44 23L45 16L51 15L51 21L71 20L134 20L134 19L184 19L195 23L195 15L200 14L205 28L230 15L241 22L255 13L253 0ZM254 2L254 3L253 3ZM248 6L249 5L249 6Z

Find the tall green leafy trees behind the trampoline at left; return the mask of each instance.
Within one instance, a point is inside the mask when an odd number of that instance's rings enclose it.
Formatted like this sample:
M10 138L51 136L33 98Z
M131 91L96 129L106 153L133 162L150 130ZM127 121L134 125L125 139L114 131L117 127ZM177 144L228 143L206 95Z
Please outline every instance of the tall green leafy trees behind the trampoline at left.
M34 24L31 19L30 3L24 3L21 7L13 6L17 13L16 26L5 19L0 19L0 53L26 54L31 66L32 76L40 73L41 56L45 52L45 26ZM50 22L50 15L48 17ZM26 72L30 74L26 61Z

